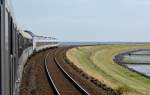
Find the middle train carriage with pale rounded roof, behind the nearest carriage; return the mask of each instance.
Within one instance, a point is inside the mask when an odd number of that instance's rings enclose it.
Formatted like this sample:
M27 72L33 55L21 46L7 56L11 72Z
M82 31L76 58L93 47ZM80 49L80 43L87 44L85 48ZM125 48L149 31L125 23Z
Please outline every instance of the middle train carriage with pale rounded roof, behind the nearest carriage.
M15 95L19 92L19 87L22 80L23 68L28 58L33 54L33 39L32 36L24 30L18 32L18 64L16 83L15 83Z

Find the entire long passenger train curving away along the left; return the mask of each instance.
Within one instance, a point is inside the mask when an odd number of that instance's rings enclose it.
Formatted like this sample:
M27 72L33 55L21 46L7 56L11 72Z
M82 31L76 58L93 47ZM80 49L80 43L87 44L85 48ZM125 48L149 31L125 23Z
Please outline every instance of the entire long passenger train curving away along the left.
M10 0L0 0L0 22L0 95L18 95L28 58L43 49L58 47L59 42L20 29Z

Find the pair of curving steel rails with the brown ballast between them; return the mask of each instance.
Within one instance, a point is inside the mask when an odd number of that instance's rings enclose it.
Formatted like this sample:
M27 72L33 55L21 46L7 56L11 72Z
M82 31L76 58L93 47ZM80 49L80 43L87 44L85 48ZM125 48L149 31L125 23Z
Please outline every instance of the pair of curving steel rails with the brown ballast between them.
M58 50L54 49L47 53L45 57L45 70L50 85L53 87L56 95L90 95L82 88L58 63L55 53Z

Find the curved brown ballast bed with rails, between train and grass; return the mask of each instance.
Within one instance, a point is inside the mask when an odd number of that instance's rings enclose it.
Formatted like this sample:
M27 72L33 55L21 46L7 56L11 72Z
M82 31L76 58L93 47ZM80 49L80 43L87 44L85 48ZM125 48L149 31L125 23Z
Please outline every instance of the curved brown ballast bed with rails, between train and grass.
M25 66L19 95L112 95L66 60L70 48L48 49L32 56Z

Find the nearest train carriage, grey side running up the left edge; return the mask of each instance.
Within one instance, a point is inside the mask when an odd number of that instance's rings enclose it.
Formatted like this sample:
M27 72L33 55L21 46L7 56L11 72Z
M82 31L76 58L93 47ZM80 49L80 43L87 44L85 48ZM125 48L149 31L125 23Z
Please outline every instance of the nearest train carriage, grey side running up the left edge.
M0 0L0 95L13 95L17 65L17 25L10 0Z

